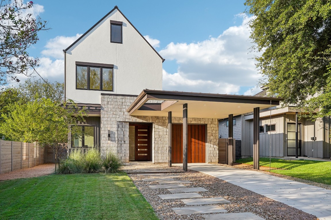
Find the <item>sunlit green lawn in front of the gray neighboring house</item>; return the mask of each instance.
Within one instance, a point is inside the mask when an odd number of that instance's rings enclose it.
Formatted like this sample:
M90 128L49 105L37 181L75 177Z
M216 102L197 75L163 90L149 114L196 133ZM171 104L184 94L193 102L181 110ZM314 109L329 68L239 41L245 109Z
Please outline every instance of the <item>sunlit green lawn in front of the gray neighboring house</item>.
M244 158L236 160L236 162L253 164L253 158ZM260 157L260 166L269 167L269 158ZM331 185L331 162L311 160L281 160L271 158L271 167L285 169L271 170L272 173L279 173Z

